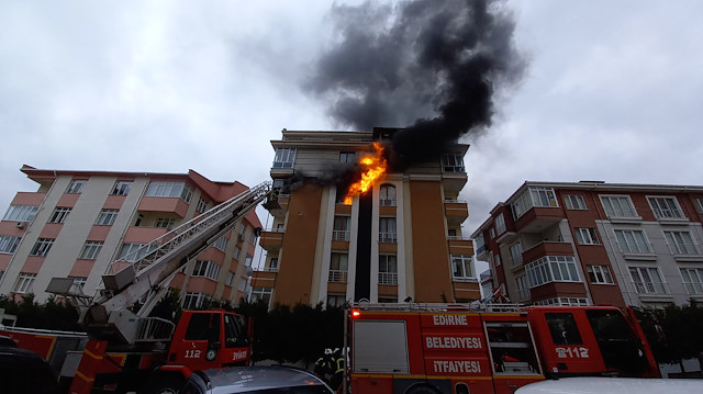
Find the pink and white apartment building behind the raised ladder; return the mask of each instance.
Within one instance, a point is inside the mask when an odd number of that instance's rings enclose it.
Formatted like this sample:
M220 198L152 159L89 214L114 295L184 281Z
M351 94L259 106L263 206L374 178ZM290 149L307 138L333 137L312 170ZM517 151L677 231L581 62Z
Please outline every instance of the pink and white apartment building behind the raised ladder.
M71 292L93 295L112 261L137 259L141 246L248 189L193 170L21 171L38 189L16 193L0 222L0 294L34 293L38 302L51 295L52 278L72 278ZM244 296L256 227L253 210L174 278L170 285L181 291L185 307Z

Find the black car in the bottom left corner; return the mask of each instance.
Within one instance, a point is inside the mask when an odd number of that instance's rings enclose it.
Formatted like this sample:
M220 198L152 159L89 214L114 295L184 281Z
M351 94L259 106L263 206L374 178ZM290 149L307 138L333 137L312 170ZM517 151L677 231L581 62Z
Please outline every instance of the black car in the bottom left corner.
M3 394L55 394L56 375L40 354L18 348L14 342L0 346L0 392Z

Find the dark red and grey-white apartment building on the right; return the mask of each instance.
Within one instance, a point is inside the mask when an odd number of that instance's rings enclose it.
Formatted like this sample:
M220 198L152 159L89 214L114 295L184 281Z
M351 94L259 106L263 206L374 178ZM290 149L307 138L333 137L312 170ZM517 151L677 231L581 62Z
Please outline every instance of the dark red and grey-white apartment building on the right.
M703 187L525 182L472 234L511 301L703 300Z

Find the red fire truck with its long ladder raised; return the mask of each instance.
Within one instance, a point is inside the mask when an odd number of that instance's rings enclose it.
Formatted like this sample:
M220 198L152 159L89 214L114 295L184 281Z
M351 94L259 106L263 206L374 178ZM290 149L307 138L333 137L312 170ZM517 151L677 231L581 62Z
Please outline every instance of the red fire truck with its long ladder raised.
M177 324L149 316L177 272L265 201L260 183L174 228L132 255L111 262L94 296L70 292L72 279L52 279L47 292L82 306L87 334L3 327L19 347L33 350L59 372L75 394L175 393L194 371L247 364L252 325L225 312L185 311ZM138 312L131 311L137 302Z

